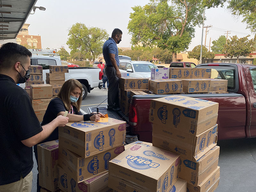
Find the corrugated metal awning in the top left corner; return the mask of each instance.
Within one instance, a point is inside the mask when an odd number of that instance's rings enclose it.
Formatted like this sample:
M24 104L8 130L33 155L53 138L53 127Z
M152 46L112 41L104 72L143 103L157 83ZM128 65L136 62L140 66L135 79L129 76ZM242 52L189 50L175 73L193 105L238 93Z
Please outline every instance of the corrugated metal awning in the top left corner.
M0 40L15 39L37 0L0 0Z

